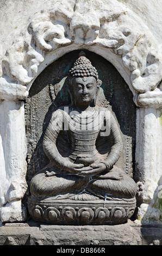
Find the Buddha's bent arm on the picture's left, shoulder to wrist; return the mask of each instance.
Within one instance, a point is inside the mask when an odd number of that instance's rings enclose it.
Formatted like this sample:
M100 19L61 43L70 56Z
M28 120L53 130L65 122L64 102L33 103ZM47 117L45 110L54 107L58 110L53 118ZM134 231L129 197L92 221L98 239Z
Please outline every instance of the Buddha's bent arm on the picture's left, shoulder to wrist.
M57 166L59 169L63 169L65 166L65 159L59 154L56 146L56 141L60 130L63 129L64 114L61 109L53 112L52 118L49 121L45 136L43 137L43 150L48 159Z

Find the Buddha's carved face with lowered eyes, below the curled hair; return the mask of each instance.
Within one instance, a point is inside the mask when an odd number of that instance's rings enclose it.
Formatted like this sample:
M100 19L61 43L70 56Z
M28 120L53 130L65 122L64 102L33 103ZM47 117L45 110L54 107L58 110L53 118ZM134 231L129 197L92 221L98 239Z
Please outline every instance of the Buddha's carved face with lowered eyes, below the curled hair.
M79 108L85 108L90 105L96 95L97 82L96 78L75 77L72 80L72 93Z

